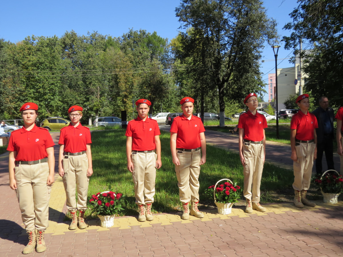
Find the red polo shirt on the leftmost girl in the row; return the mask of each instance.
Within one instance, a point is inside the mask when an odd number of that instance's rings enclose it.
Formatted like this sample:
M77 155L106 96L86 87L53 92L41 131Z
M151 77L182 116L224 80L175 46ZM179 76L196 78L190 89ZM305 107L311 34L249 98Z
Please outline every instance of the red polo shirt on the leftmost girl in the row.
M16 161L36 161L48 157L45 149L54 145L49 131L35 125L30 131L13 131L7 150L17 152Z

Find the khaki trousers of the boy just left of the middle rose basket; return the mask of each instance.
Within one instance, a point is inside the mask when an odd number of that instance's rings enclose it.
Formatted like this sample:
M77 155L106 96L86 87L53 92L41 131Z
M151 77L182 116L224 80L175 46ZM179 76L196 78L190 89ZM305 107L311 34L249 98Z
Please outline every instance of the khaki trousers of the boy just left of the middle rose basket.
M176 151L177 158L180 161L180 165L175 166L180 201L183 204L187 204L191 200L199 201L199 174L201 151Z

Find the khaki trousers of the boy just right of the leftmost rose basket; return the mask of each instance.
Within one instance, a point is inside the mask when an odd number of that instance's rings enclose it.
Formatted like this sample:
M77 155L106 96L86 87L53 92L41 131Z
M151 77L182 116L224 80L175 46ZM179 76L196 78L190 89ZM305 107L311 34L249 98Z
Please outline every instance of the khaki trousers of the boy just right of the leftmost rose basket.
M132 179L134 183L134 196L136 204L149 204L154 202L156 179L155 152L137 152L131 154L133 163Z

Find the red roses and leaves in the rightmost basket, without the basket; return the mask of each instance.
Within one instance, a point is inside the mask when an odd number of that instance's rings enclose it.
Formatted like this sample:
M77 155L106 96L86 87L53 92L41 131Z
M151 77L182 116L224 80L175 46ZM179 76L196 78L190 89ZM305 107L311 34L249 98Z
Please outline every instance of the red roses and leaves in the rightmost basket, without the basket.
M324 176L323 176L324 175ZM343 191L343 178L336 171L327 171L312 177L312 183L323 193L340 194Z

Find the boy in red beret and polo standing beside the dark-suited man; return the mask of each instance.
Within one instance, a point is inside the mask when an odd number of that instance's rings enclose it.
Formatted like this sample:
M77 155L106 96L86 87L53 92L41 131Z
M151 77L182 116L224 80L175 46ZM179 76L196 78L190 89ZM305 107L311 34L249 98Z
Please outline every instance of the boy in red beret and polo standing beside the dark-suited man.
M298 96L296 104L299 111L291 120L291 159L294 170L294 205L303 208L304 205L315 207L316 204L306 198L310 188L313 161L317 159L317 118L308 112L310 101L308 94Z

